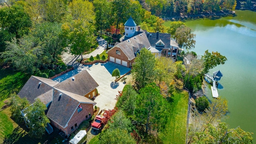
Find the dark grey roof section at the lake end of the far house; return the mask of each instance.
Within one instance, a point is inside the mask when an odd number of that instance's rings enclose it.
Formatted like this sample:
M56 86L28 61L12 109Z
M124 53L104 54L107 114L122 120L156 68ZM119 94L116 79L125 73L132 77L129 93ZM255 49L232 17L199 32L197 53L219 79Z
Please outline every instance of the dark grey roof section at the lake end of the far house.
M151 34L151 36L150 36ZM164 34L164 33L158 33L158 39L157 38L157 32L148 32L147 33L148 40L151 44L151 46L156 46L156 43L159 40L162 40L164 42L164 48L170 48L170 40L171 40L171 34Z

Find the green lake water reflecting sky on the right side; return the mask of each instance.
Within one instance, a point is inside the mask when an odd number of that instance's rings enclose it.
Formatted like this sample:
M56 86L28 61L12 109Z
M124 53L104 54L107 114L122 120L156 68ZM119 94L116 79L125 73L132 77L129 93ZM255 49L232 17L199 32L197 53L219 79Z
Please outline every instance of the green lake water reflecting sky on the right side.
M218 92L228 100L229 118L225 122L230 128L240 126L253 132L256 139L256 12L236 10L236 16L185 23L196 34L193 51L198 55L205 50L218 51L228 59L210 70L210 74L217 70L223 74ZM212 99L210 84L206 86L206 96Z

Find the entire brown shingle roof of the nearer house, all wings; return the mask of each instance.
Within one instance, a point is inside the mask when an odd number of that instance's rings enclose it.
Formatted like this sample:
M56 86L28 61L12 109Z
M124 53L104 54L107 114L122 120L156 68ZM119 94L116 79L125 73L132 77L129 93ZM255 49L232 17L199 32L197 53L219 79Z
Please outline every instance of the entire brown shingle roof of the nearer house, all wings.
M92 76L84 70L73 77L74 81L68 78L58 84L47 78L31 76L18 95L20 98L26 97L30 104L33 104L36 98L44 104L49 104L46 116L65 128L80 103L93 106L96 104L84 97L98 86Z

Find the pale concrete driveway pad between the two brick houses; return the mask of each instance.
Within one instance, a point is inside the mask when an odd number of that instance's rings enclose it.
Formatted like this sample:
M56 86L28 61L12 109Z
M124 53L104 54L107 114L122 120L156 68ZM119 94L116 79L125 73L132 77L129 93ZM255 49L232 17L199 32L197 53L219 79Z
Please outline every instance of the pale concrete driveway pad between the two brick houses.
M131 69L113 62L106 63L95 63L93 65L80 65L78 68L63 74L53 80L56 82L62 82L83 70L87 70L89 74L98 83L98 93L100 94L94 100L97 102L96 106L100 109L113 109L116 104L116 95L118 91L122 91L124 88L124 82L115 82L115 77L112 77L112 72L114 69L118 68L120 70L120 75L124 75Z

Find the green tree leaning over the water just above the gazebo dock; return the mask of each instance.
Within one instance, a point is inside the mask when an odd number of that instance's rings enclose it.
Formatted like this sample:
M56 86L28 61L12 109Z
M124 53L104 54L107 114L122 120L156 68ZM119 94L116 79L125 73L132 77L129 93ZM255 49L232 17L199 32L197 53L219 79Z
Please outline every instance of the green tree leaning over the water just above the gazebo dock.
M214 68L219 64L225 64L227 58L226 56L222 56L219 52L210 53L206 50L204 56L202 56L202 60L204 62L203 73L206 74L211 68Z

